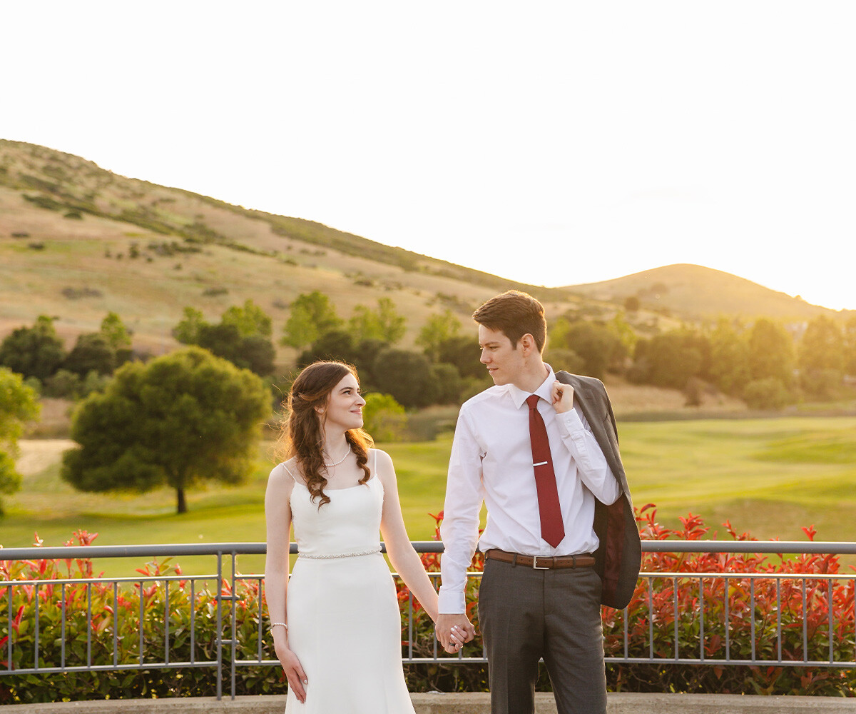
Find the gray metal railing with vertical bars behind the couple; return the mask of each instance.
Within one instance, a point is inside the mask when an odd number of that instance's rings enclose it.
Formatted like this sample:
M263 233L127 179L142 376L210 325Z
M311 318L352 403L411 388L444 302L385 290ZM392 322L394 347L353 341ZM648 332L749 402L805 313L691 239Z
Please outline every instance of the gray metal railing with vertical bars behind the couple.
M420 553L443 552L443 544L436 541L416 542ZM716 553L716 554L837 554L856 555L856 543L817 542L764 542L764 541L643 541L647 553ZM296 553L295 543L291 553ZM30 561L36 565L41 561L92 561L99 558L158 558L183 555L211 556L216 560L214 572L205 575L183 575L176 573L140 572L140 577L56 577L51 579L4 579L0 580L0 681L9 675L49 675L86 671L121 671L140 669L210 668L217 673L217 699L223 696L225 669L229 668L231 696L235 697L235 679L238 668L278 666L276 659L265 657L272 654L272 646L265 642L265 616L262 603L264 575L241 574L237 570L239 555L263 555L265 543L213 543L187 545L138 545L138 546L66 546L59 548L10 548L0 549L0 567L13 561ZM229 562L224 562L226 559ZM224 572L225 571L225 572ZM437 584L439 573L429 573ZM471 579L479 579L481 573L469 573ZM853 650L856 632L853 627L841 632L836 626L849 621L853 623L853 592L856 591L856 574L842 573L728 573L728 572L643 572L633 602L623 611L604 610L608 615L604 621L606 638L606 661L608 663L657 663L657 664L706 664L706 665L776 665L802 667L856 668L856 661L847 657L845 651ZM157 593L155 592L157 590ZM139 591L139 640L126 642L118 630L120 605L130 591ZM734 597L735 591L740 595ZM772 598L775 593L775 607ZM154 597L157 595L157 597ZM84 608L80 602L86 599ZM93 610L93 598L97 601ZM172 598L172 603L170 598ZM767 610L761 611L758 603L764 599ZM5 600L5 603L3 603ZM250 602L252 600L252 602ZM25 601L32 609L33 641L27 645L32 660L15 664L15 648L23 647L21 641L21 618ZM186 603L187 621L173 623L175 602ZM5 607L3 607L5 604ZM243 617L237 609L242 608ZM98 608L104 611L98 611ZM136 607L136 606L134 606ZM156 640L151 632L145 632L146 608L163 607L163 621L158 627L158 638L163 635L162 655L146 651L146 641ZM406 648L402 647L404 663L485 663L484 649L481 656L446 655L438 649L437 641L426 644L425 627L421 637L417 632L419 606L414 605L413 596L407 594L402 603L402 614L407 622ZM109 616L105 615L110 610ZM200 612L200 610L202 612ZM158 610L159 611L159 610ZM770 613L775 614L775 623ZM41 621L48 615L58 615L60 631L59 651L53 647L55 661L45 661L47 647L40 641L45 629ZM126 610L127 614L127 610ZM424 614L423 614L424 615ZM130 615L128 615L130 616ZM183 617L183 616L182 616ZM239 620L244 627L255 622L252 633L245 627L245 638L258 640L254 645L254 657L239 658ZM794 620L794 618L796 618ZM151 619L151 618L150 618ZM669 620L671 620L669 622ZM698 624L696 642L681 643L682 628L687 620ZM787 620L787 623L785 622ZM213 641L208 657L201 656L199 628L211 627ZM424 617L421 619L424 623ZM795 622L801 627L802 657L794 651L783 651L786 634ZM69 639L73 626L86 628L86 647L78 639ZM189 633L187 628L189 627ZM787 632L786 632L787 627ZM101 661L94 662L93 633L98 628L112 630L111 651L101 651ZM647 631L647 642L645 639ZM740 631L738 633L738 631ZM809 644L826 633L823 658L809 658ZM55 633L56 634L56 633ZM79 633L78 633L79 634ZM746 641L748 635L748 651ZM44 640L44 638L42 638ZM182 652L187 657L175 657L177 640L184 643ZM793 636L792 636L793 639ZM78 644L74 646L74 641ZM711 643L716 642L716 646ZM99 640L99 647L110 648ZM849 643L847 645L847 643ZM243 643L246 645L247 643ZM402 645L403 645L402 632ZM189 645L189 646L187 646ZM738 653L732 654L735 646ZM847 646L845 646L847 645ZM245 655L247 647L241 648ZM814 647L817 650L817 646ZM30 652L30 650L32 650ZM135 650L135 651L134 651ZM741 655L740 652L743 654ZM5 655L5 657L4 657ZM131 657L133 655L133 657ZM21 657L19 656L20 660ZM104 662L107 659L107 662Z

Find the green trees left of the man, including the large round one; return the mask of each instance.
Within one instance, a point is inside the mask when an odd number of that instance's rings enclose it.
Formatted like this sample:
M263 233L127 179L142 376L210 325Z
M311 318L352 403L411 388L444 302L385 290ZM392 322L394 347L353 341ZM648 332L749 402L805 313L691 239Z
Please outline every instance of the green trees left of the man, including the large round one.
M0 404L0 492L20 487L15 439L36 416L39 393L80 400L71 426L79 446L63 455L61 471L77 489L168 486L183 513L193 484L238 483L247 475L259 427L290 379L275 374L272 321L252 300L230 307L218 322L185 308L172 333L186 346L162 357L132 351L131 332L114 313L97 333L81 334L70 351L54 321L41 315L0 344L0 387L9 395ZM460 327L449 311L435 315L419 334L423 351L402 350L395 344L406 320L389 298L376 308L357 306L344 321L327 296L313 291L294 301L281 342L301 349L293 373L317 358L354 363L364 390L372 392L367 425L391 439L401 434L406 408L456 401L465 384L484 388L483 374L471 368L466 381L455 366L438 361L462 354L462 343L453 345ZM467 364L480 367L473 338L464 341Z

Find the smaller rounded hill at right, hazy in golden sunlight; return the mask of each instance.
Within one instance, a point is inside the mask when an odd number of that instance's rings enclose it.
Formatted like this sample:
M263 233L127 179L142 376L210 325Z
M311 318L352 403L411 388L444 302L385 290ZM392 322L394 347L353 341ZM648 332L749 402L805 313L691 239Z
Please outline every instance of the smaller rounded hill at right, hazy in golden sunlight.
M567 290L622 304L627 297L637 297L645 309L665 309L673 315L696 320L716 315L747 318L763 315L802 321L816 315L836 314L834 310L811 305L800 297L770 290L731 273L686 263L599 283L569 285Z

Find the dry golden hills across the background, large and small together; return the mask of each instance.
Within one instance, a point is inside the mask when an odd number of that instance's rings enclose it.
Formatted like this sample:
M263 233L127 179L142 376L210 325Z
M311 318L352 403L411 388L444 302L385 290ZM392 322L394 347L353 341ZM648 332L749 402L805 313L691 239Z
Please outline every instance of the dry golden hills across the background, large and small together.
M663 286L655 297L653 288ZM217 321L230 305L253 299L273 318L276 339L294 297L320 290L345 318L358 304L391 297L407 317L409 346L429 315L448 308L467 325L479 303L508 288L538 297L550 317L608 319L624 297L639 295L643 308L630 320L642 332L715 313L823 310L697 266L567 288L525 285L0 140L0 337L45 314L58 318L56 329L70 343L112 310L134 330L137 349L160 354L175 347L170 329L185 306ZM277 362L291 363L294 351L279 350Z

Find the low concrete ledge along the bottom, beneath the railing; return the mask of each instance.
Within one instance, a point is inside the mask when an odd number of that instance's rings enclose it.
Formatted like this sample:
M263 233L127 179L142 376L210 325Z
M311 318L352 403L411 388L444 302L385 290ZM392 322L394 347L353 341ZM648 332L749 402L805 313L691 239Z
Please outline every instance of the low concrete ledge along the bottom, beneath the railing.
M490 714L487 693L412 694L417 714ZM285 697L259 696L231 699L113 699L56 704L21 704L2 707L9 714L282 714ZM536 694L537 714L556 714L552 694ZM609 714L853 714L856 699L839 697L759 697L735 694L629 694L610 693ZM332 714L332 712L331 712Z

